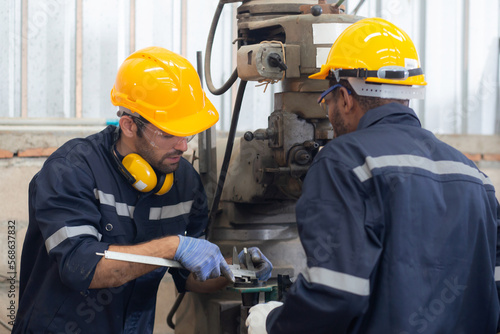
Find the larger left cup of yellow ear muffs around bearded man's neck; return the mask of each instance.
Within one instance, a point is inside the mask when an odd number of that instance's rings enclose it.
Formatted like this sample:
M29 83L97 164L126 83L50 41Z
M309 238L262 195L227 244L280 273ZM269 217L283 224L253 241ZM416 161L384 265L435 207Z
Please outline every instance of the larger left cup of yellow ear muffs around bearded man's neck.
M153 168L139 154L130 153L122 160L123 167L134 177L132 186L142 192L153 190L157 178Z

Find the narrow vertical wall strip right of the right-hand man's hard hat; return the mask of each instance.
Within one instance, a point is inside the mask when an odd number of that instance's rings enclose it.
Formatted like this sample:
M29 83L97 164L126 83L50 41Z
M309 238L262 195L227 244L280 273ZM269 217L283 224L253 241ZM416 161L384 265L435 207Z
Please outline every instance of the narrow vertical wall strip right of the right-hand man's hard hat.
M468 128L469 114L469 0L463 0L463 29L462 29L462 117L461 117L461 133L466 134Z

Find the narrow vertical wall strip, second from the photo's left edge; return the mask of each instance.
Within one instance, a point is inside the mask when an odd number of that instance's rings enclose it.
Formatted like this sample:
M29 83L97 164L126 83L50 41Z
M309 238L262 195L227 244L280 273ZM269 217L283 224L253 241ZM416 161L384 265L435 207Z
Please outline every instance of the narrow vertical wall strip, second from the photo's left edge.
M75 36L75 117L82 118L83 110L83 0L76 0L76 36Z

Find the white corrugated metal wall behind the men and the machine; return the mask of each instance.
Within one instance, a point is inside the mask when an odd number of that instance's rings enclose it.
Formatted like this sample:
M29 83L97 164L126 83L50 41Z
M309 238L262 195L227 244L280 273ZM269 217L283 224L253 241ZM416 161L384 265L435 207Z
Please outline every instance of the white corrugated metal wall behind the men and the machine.
M330 0L328 2L332 2ZM386 18L420 51L428 81L414 102L437 133L493 134L499 123L498 0L366 0L358 15ZM360 1L347 0L351 13ZM132 51L159 45L196 64L205 51L216 0L1 0L0 117L113 118L109 92ZM234 67L235 8L219 23L212 76L220 86ZM276 86L276 85L275 85ZM279 87L248 85L240 130L265 127ZM229 128L232 96L212 96ZM1 122L1 120L0 120Z

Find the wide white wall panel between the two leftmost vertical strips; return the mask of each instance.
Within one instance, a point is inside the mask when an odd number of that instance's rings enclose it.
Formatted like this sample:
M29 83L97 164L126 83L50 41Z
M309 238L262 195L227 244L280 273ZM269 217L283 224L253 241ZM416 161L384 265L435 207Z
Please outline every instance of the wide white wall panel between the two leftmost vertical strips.
M75 1L28 2L28 117L72 117Z

